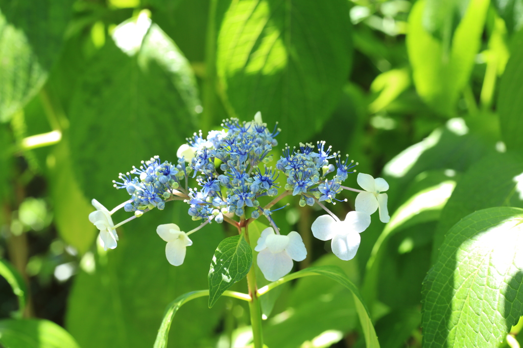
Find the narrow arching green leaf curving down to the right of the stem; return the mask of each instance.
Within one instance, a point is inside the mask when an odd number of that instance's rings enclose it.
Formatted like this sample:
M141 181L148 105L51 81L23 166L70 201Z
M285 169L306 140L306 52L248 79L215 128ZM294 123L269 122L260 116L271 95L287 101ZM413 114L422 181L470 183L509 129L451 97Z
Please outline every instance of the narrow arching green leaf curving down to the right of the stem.
M260 295L264 295L267 291L272 290L274 287L280 284L286 283L293 279L307 277L309 275L323 275L324 277L335 280L350 290L350 292L353 294L356 311L360 319L363 335L365 335L365 342L367 347L379 347L380 344L378 342L378 338L376 337L376 331L374 331L372 320L370 319L369 310L367 309L365 301L363 301L363 298L358 291L358 287L353 282L351 282L349 278L347 278L347 275L337 266L309 267L304 270L288 274L280 280L269 284L267 288L260 289L259 293Z

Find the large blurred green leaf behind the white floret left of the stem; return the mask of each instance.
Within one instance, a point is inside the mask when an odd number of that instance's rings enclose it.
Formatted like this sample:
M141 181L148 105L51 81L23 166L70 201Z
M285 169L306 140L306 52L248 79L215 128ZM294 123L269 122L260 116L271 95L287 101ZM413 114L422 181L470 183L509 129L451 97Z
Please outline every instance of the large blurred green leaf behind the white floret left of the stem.
M83 348L152 346L167 304L179 294L207 288L209 263L224 237L222 226L212 223L191 234L184 264L175 267L155 233L158 224L169 222L186 231L196 226L183 202L170 202L164 211L147 212L123 225L118 247L98 256L96 271L76 276L66 324ZM172 323L172 346L211 344L222 305L219 301L212 310L204 301L184 306ZM198 325L187 318L198 318Z

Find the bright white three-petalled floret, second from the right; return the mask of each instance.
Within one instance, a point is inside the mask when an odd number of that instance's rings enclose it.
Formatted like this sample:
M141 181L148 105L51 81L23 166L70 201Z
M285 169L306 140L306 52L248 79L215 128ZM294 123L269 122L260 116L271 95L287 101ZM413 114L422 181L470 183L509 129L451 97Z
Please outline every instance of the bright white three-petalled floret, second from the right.
M361 241L360 233L370 225L370 215L361 211L350 211L345 221L336 221L331 215L321 215L311 226L314 237L322 241L332 239L334 255L350 260L356 255Z

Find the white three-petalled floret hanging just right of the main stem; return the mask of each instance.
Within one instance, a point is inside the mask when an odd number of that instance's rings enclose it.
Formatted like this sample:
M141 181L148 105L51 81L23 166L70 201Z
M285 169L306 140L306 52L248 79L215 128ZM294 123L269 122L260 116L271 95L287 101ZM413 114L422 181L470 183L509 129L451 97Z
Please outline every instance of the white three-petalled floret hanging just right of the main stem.
M258 253L258 267L268 281L274 282L292 269L292 260L303 261L307 256L305 244L298 232L275 234L272 227L261 232L254 250Z

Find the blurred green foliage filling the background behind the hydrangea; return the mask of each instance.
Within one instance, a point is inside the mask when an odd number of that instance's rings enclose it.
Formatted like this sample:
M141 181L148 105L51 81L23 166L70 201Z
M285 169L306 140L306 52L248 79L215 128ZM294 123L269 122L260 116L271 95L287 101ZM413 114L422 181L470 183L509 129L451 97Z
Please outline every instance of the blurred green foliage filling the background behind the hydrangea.
M151 346L166 305L207 289L234 231L212 224L172 267L154 230L196 226L185 206L126 224L104 251L89 201L117 205L119 172L261 111L279 148L326 140L389 182L391 222L348 262L312 239L319 211L277 219L303 235L298 268L338 265L360 286L381 346L421 346L422 282L446 232L523 207L522 26L521 0L0 0L0 343ZM365 344L334 281L302 279L262 305L269 347ZM199 299L169 346L243 347L248 323L234 299Z

